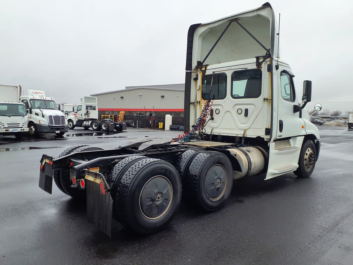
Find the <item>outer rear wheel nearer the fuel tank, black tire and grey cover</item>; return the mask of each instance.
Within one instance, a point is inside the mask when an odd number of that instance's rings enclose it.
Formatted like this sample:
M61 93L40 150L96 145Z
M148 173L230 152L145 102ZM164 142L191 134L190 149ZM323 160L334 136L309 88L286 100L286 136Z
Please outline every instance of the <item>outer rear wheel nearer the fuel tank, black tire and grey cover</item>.
M228 157L220 152L203 152L189 166L184 193L195 209L211 212L225 205L232 187L233 168Z

